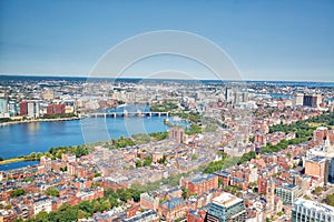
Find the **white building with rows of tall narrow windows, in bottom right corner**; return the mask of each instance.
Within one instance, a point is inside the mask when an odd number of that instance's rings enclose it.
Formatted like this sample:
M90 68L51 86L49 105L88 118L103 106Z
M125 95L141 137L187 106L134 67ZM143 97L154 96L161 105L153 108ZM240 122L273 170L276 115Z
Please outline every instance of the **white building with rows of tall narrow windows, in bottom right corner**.
M292 209L292 222L334 222L334 208L315 201L298 199Z

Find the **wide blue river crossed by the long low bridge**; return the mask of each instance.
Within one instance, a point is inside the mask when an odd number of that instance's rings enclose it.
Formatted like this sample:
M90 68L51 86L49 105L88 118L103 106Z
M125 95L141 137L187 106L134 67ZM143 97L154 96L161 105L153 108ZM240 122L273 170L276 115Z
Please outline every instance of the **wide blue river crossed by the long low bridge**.
M122 109L120 108L117 111L122 111ZM127 107L126 110L138 110L138 108ZM147 108L140 107L140 110L147 110ZM110 110L110 112L112 111ZM153 115L151 118L108 117L0 127L0 157L3 159L16 158L31 152L46 152L51 147L78 145L144 132L163 132L168 130L164 119L166 119L166 115ZM0 165L0 171L37 163L38 161L9 163Z

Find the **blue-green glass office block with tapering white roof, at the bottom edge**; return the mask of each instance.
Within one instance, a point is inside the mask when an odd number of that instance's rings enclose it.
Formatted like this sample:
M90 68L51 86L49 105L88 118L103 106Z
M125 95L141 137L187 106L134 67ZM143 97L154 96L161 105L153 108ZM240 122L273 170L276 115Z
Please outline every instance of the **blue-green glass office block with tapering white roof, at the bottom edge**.
M207 211L207 221L246 221L244 200L225 192L214 198L213 204Z

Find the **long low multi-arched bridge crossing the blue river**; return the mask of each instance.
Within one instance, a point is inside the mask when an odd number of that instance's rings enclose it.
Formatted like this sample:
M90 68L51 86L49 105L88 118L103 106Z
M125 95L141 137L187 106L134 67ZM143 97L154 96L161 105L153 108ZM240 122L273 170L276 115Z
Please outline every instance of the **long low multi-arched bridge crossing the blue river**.
M137 112L128 112L128 111L124 111L124 112L96 112L96 113L86 113L82 114L84 117L88 117L88 118L97 118L97 117L112 117L112 118L117 118L117 117L153 117L153 115L166 115L168 118L169 112L153 112L153 111L137 111Z

